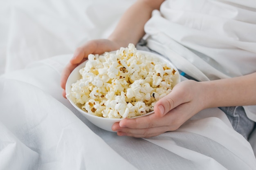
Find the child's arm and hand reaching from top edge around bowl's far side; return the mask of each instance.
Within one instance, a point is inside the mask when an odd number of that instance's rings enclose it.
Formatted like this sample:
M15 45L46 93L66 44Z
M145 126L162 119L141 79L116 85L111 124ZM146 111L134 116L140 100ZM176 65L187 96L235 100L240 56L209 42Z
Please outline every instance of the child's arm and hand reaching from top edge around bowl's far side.
M121 46L126 47L129 43L137 44L143 37L144 24L151 17L154 9L159 9L164 0L137 0L121 17L116 29L108 39L91 40L80 46L74 52L70 63L61 74L61 88L65 97L65 84L70 73L80 63L85 61L89 54L102 54L106 51L114 51Z

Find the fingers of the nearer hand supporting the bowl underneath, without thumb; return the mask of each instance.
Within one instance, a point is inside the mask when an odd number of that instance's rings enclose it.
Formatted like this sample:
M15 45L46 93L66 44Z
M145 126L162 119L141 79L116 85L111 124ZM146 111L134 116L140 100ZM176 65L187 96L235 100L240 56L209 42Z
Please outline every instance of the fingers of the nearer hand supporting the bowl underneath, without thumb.
M120 136L152 137L167 131L177 130L194 113L188 114L185 110L191 108L189 103L181 104L169 111L163 117L152 114L136 119L124 119L112 126Z

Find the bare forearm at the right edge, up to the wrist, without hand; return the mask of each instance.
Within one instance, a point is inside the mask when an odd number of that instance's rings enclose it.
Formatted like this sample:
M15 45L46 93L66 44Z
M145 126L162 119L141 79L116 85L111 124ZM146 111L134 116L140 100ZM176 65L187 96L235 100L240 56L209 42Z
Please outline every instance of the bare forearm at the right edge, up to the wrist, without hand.
M256 105L256 73L200 83L206 108Z

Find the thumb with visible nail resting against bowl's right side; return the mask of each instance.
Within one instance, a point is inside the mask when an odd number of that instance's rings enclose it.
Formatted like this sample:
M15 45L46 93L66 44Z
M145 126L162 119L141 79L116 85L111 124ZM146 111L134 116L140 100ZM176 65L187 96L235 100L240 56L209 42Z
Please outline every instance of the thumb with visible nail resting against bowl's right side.
M176 91L175 90L171 91L171 93L156 102L154 106L154 111L156 115L162 117L180 104L189 102L186 101L186 97L184 97L183 91L180 91L179 89L177 89Z

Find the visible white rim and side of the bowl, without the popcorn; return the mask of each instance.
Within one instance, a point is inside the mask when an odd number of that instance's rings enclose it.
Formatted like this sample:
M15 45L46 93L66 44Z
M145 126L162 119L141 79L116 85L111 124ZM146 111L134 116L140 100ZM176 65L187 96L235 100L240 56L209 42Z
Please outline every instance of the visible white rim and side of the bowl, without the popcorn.
M173 86L175 86L177 83L180 82L180 74L179 74L177 68L169 60L162 57L161 55L157 55L155 53L151 53L151 52L148 52L148 51L140 51L140 50L137 50L137 51L142 53L142 54L155 56L159 59L159 61L161 61L163 63L166 63L167 66L170 66L171 68L174 68L175 71L176 71L176 73L175 73L176 76L175 76L175 79L173 79ZM66 90L65 90L66 94L70 93L71 88L72 88L71 85L73 83L75 83L76 80L80 79L81 75L79 73L79 70L85 66L85 63L86 63L86 61L81 63L79 66L77 66L72 71L70 76L68 77L67 83L66 83ZM74 102L72 102L71 100L69 100L69 101L83 116L85 116L86 119L88 119L90 122L92 122L92 124L98 126L99 128L102 128L104 130L108 130L110 132L113 132L111 127L114 123L119 122L122 119L124 119L124 118L119 118L119 119L118 118L106 118L106 117L98 117L98 116L95 116L95 115L91 115L91 114L83 111L78 106L76 106L76 104L74 104ZM154 113L154 111L152 111L150 113L146 113L145 115L137 116L137 117L148 116L148 115L151 115L152 113ZM134 119L134 118L137 118L137 117L132 117L132 118L129 118L129 119Z

